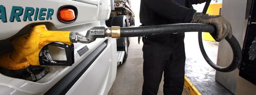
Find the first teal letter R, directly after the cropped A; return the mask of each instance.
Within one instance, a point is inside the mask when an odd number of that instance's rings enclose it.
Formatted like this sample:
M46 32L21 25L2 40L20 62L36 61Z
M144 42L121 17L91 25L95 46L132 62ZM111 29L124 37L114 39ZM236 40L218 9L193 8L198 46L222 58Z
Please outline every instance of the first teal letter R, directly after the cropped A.
M17 12L18 11L18 12ZM19 16L23 14L23 8L19 6L12 6L12 12L10 16L10 21L13 22L14 18L20 22Z

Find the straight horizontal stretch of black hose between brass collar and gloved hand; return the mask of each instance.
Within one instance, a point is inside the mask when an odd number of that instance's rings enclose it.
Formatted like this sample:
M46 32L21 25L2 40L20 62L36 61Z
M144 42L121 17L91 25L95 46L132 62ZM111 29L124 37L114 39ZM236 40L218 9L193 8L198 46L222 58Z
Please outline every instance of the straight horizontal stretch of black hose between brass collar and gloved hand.
M120 37L137 37L157 34L184 33L195 31L207 31L214 33L214 26L203 23L176 23L169 25L123 27L120 29Z

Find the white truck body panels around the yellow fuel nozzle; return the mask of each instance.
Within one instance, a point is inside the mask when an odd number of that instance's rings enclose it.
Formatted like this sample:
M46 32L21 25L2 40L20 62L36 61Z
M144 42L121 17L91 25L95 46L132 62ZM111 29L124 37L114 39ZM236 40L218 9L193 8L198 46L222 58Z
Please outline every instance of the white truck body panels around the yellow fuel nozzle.
M77 19L72 23L62 23L57 19L58 8L64 5L75 6L78 10ZM22 14L11 16L12 12L18 13L23 9ZM29 17L24 14L31 13L26 8L33 8L34 13ZM1 9L2 8L2 9ZM36 14L38 8L38 14ZM48 11L40 11L42 8L54 10L53 14ZM111 1L109 0L46 0L46 1L20 1L20 0L1 0L0 4L0 54L11 49L9 39L19 34L29 33L30 27L33 25L46 25L48 30L72 31L86 35L87 31L96 26L105 26L105 20L108 20L111 12ZM13 11L14 10L14 11ZM4 13L5 12L5 13ZM52 13L52 12L50 12ZM5 14L5 15L4 15ZM29 15L29 14L28 14ZM35 17L37 15L37 17ZM45 18L40 20L38 18ZM51 16L51 18L49 17ZM13 18L14 19L11 19ZM20 20L18 20L18 18ZM4 18L6 18L4 20ZM36 20L35 20L36 19ZM87 69L80 75L75 83L69 88L65 88L65 94L108 94L115 77L117 69L116 61L116 39L99 38L92 43L74 43L74 59L72 66L45 66L48 73L40 80L32 82L24 79L17 79L0 74L0 90L1 94L44 94L49 89L68 75L76 66L86 63L87 60L96 49L101 45L105 45L104 49L98 53L95 59L88 65ZM88 51L79 55L77 51L83 47L88 47ZM58 50L58 49L57 49ZM56 51L57 51L56 50ZM61 55L55 54L56 58ZM89 58L90 59L90 58ZM86 64L85 64L86 65ZM65 86L65 85L63 85ZM62 86L62 87L63 87ZM61 86L60 86L61 87ZM56 88L58 89L58 88Z

